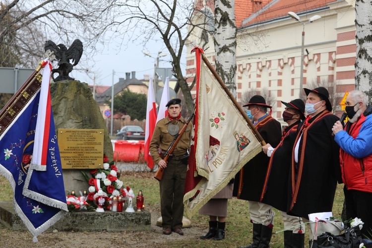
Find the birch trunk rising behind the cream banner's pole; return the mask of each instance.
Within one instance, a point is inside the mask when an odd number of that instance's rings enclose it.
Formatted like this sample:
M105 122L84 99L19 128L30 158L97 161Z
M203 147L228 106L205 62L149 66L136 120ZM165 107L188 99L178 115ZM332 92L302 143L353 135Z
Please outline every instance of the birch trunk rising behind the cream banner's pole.
M215 0L214 50L217 74L236 98L237 26L234 0Z

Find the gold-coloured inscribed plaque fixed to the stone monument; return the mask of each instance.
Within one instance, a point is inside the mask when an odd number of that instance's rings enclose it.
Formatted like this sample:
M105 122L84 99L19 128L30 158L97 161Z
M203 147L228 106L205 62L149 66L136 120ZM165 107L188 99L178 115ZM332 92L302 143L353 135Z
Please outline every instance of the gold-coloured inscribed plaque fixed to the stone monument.
M103 129L58 129L62 169L95 169L103 164Z

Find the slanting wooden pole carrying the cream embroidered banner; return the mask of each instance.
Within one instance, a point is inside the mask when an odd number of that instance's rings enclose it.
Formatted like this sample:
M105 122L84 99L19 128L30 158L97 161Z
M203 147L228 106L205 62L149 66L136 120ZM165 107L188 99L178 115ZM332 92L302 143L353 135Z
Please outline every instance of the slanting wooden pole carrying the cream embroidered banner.
M242 114L244 119L246 120L247 124L249 125L250 129L253 131L256 138L261 142L261 145L262 146L266 145L266 142L263 140L262 136L259 134L256 127L251 123L251 121L249 120L248 116L246 115L246 113L244 112L242 107L240 107L240 105L238 104L238 102L235 99L235 97L233 96L233 94L231 94L230 90L226 87L226 85L222 81L221 77L217 74L216 70L213 68L213 66L210 64L210 62L208 61L208 59L205 57L205 55L203 53L201 53L201 58L203 59L204 63L207 65L209 70L212 72L213 76L217 79L218 83L225 90L226 94L230 97L231 101L238 108L238 110L240 111L240 113Z

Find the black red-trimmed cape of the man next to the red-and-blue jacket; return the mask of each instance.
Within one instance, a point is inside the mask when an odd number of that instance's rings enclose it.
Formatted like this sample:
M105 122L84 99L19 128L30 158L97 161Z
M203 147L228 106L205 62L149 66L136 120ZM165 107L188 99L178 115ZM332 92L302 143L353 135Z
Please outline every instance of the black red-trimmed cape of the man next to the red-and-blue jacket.
M340 147L332 135L339 118L327 110L298 126L299 163L292 151L288 213L309 219L309 214L331 212L337 182L342 183ZM307 124L308 123L308 124Z

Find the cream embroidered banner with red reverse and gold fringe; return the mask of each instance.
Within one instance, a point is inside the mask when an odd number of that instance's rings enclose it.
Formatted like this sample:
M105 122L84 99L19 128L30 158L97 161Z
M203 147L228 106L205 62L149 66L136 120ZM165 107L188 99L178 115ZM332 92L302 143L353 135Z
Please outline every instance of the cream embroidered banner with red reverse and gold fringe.
M196 52L196 106L184 204L193 215L262 148L238 107Z

